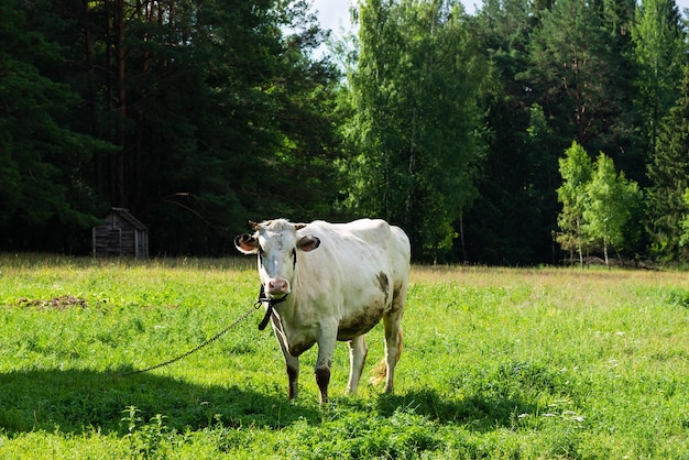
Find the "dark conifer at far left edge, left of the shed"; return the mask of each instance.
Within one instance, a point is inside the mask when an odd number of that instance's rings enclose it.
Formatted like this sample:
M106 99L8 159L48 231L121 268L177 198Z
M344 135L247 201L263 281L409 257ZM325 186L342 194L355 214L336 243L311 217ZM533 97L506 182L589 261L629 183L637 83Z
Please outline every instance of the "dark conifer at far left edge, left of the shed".
M45 238L51 226L92 224L100 200L81 169L95 154L112 151L70 129L81 101L51 78L51 69L67 65L64 48L28 15L18 2L0 6L0 238L18 242L29 237L26 228ZM50 9L42 21L64 25Z

